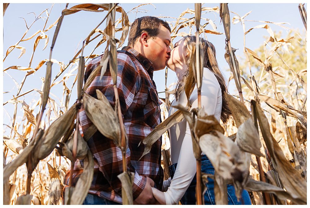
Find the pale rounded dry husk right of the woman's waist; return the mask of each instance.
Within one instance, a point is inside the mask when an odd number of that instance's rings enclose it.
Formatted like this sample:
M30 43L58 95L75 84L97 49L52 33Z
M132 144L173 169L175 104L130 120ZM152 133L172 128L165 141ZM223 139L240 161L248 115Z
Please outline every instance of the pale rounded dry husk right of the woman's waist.
M236 135L236 142L238 147L243 151L250 152L258 157L264 156L259 151L262 144L252 118L247 119L239 126Z

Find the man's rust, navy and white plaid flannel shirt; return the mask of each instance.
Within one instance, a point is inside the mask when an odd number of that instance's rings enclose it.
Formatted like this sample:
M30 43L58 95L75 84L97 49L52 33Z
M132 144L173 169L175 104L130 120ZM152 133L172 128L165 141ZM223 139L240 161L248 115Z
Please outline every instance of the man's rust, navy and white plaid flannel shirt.
M102 56L102 55L101 55ZM86 68L84 82L91 72L100 64L101 56L92 59ZM133 198L137 198L144 189L146 177L155 182L155 187L161 189L163 169L161 167L162 137L153 144L151 152L139 160L144 151L144 144L138 144L159 123L161 115L159 105L162 103L153 81L153 64L142 54L131 47L117 51L117 89L128 147L126 150L127 168L135 173L133 183ZM113 80L109 64L100 80L100 71L87 88L86 93L96 98L99 89L114 108L115 97ZM103 121L104 122L104 121ZM86 132L92 122L87 118L83 105L79 110L79 128L81 135ZM96 194L108 200L122 203L122 185L117 175L122 173L122 152L111 139L97 131L87 144L94 155L94 178L88 193ZM139 160L139 161L138 161ZM83 160L74 163L73 186L83 172ZM64 177L64 184L69 184L70 170Z

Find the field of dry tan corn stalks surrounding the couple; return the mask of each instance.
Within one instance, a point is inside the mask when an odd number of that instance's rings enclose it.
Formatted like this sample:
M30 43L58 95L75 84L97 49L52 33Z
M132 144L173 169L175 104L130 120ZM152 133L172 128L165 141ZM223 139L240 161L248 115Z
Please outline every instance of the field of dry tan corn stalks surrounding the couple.
M94 76L101 70L104 74L108 60L116 86L117 50L120 50L128 37L130 29L129 13L143 12L140 4L130 11L125 11L117 3L78 4L70 7L65 5L59 18L48 25L51 8L42 11L36 17L45 21L42 29L34 34L28 34L32 24L27 25L24 34L16 44L4 49L3 63L8 56L13 56L13 50L20 50L18 58L29 59L28 66L12 65L3 69L3 76L13 81L13 71L24 72L22 82L15 81L17 91L8 92L12 97L4 100L3 109L11 105L14 111L7 112L9 124L3 125L3 204L5 205L59 205L82 204L93 177L94 160L86 141L98 130L106 137L113 139L122 149L123 158L126 154L126 133L118 106L113 109L104 95L98 90L97 98L84 93ZM300 21L307 30L307 12L303 4L293 4L292 12L300 14ZM3 15L10 10L10 4L3 3ZM172 41L188 34L196 37L222 35L226 45L224 56L231 71L228 82L235 84L236 94L225 94L228 99L232 116L228 124L218 123L213 115L207 115L198 107L187 109L178 106L179 110L168 115L168 109L173 99L175 85L167 85L165 76L165 94L161 98L162 123L159 124L142 142L145 145L143 155L150 151L152 144L162 137L162 167L164 177L168 179L170 165L169 137L167 130L186 119L192 129L194 155L197 160L197 204L203 203L202 194L206 189L201 183L208 178L215 181L216 204L227 204L226 185L232 183L236 195L240 196L242 189L250 193L252 204L256 205L305 205L307 204L307 60L298 68L284 57L293 51L292 44L299 45L302 53L307 53L306 34L297 31L290 33L287 39L279 38L270 25L290 30L285 23L256 21L257 26L247 27L250 12L241 16L229 10L229 4L221 3L217 7L207 7L208 4L195 3L195 9L184 10L178 17L170 18ZM57 45L57 36L64 29L61 27L68 15L84 12L102 12L102 21L89 31L82 39L82 47L78 48L71 60L53 59L53 48ZM45 16L46 15L46 16ZM221 24L215 25L210 19L216 15ZM5 19L6 16L4 15ZM118 18L118 19L117 19ZM243 29L243 57L236 57L231 39L232 24ZM104 26L105 25L105 26ZM54 34L50 32L55 27ZM218 31L224 27L224 33ZM101 29L100 29L101 28ZM268 33L262 48L252 50L247 48L247 34L257 29L265 29ZM52 37L52 40L49 41ZM100 38L98 38L100 37ZM100 39L100 40L98 40ZM185 84L185 93L189 98L195 85L201 89L203 54L197 39L196 47L190 62L189 78ZM6 37L4 36L4 41ZM32 41L33 48L24 48L24 41ZM45 41L44 49L51 42L50 55L39 63L32 63L38 54L39 42ZM97 42L96 42L97 41ZM295 41L295 42L294 42ZM84 49L88 44L95 45L90 54ZM94 44L96 42L96 44ZM104 47L104 56L97 67L83 83L85 67L89 60L100 54L94 54L96 48ZM31 50L30 57L23 56L26 50ZM240 49L239 49L240 50ZM16 57L17 60L17 57ZM35 65L37 64L37 65ZM300 65L298 65L300 66ZM58 72L59 70L59 72ZM41 86L23 91L24 83L39 71L45 71L45 76L37 80ZM56 72L58 72L56 74ZM55 75L56 74L56 75ZM115 75L115 76L114 76ZM163 77L164 78L164 77ZM41 84L42 83L42 84ZM62 90L62 97L53 99L52 90ZM25 98L31 98L36 92L40 98L26 103ZM4 92L7 93L7 92ZM76 100L69 105L70 100ZM83 103L87 105L88 117L96 117L100 122L94 122L82 137L78 131L78 108ZM17 109L24 114L17 116ZM98 109L102 109L99 110ZM105 121L105 122L102 122ZM207 175L200 171L201 152L212 162L215 175ZM65 173L71 169L76 159L84 159L84 171L75 187L66 188L63 201L63 181ZM132 174L123 163L124 172L119 175L122 182L123 204L133 204ZM71 171L70 173L72 173ZM72 177L72 176L71 176ZM74 199L74 201L71 199Z

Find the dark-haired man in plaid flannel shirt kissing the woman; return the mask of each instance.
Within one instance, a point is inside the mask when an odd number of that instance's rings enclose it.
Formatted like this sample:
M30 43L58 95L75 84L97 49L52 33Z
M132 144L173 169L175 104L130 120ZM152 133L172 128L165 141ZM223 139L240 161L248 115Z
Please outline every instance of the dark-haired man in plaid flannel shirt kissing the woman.
M161 167L161 145L159 138L151 148L151 152L142 157L144 145L138 144L160 122L161 102L158 99L153 71L164 69L170 56L171 29L165 21L156 17L145 16L131 25L128 47L117 52L117 88L121 111L128 135L126 160L128 170L135 173L133 182L133 199L135 204L154 204L152 188L161 190L163 169ZM102 56L102 55L101 55ZM84 81L87 80L101 60L101 56L89 62ZM108 64L109 66L109 64ZM115 98L113 81L109 67L100 80L100 72L86 90L86 93L96 97L96 89L109 100L114 108ZM87 118L85 109L79 111L80 131L86 132L92 125ZM121 182L117 175L122 173L122 153L111 139L97 131L87 144L94 155L94 178L85 199L85 204L120 204ZM138 161L139 160L139 161ZM77 160L74 164L73 185L82 173L83 162ZM69 184L69 171L64 183Z

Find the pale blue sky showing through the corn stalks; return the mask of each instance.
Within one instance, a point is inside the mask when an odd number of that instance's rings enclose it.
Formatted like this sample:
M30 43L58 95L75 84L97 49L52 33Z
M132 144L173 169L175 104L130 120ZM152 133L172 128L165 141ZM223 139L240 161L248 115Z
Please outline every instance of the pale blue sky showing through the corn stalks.
M51 3L45 4L36 4L36 3L28 3L28 4L21 4L21 3L11 3L6 13L3 17L3 55L5 55L7 48L11 45L14 45L17 43L24 32L26 31L24 18L28 25L31 24L31 22L34 20L34 14L37 16L45 9L51 8ZM76 3L69 3L69 8L76 5ZM120 3L120 6L123 7L125 11L131 10L133 7L138 6L139 3ZM154 5L154 6L153 6ZM164 3L153 3L153 5L144 5L140 7L141 9L148 10L146 13L130 13L128 14L129 21L133 22L135 18L145 16L145 15L151 15L151 16L170 16L170 17L178 17L184 10L187 8L194 9L194 3L188 4L188 3L179 3L179 4L164 4ZM203 7L215 7L219 6L219 3L205 3ZM156 7L156 9L155 9ZM251 14L246 17L247 20L263 20L263 21L271 21L271 22L286 22L289 24L286 24L286 27L298 29L301 34L305 34L305 28L303 26L299 10L298 10L298 3L272 3L272 4L266 4L266 3L256 3L256 4L246 4L246 3L229 3L228 4L229 10L236 12L240 16L245 15L247 12L251 11ZM65 8L64 3L55 3L51 10L51 14L49 17L49 20L47 22L47 27L55 22L55 20L61 15L61 11ZM305 5L305 8L307 10L307 5ZM49 11L48 10L48 11ZM30 13L33 12L33 13ZM30 13L30 14L28 14ZM67 15L64 17L63 23L60 28L60 33L57 37L55 47L53 49L52 58L56 59L58 61L63 61L64 65L66 65L69 60L73 58L75 55L75 51L77 49L80 49L82 46L82 41L86 38L86 36L89 34L89 32L98 25L98 23L104 18L106 15L105 12L86 12L86 11L80 11L78 13L75 13L73 15ZM44 14L46 16L46 14ZM234 14L230 13L231 19ZM21 18L20 18L21 17ZM119 15L117 16L119 17ZM184 17L193 17L193 15L186 15ZM220 24L220 18L219 14L215 12L210 12L207 14L202 15L203 18L211 19L215 25L217 26L217 31L224 33L223 25ZM166 21L171 22L174 25L175 19L170 18L163 18ZM45 20L39 19L36 21L33 26L30 28L29 32L25 36L25 38L30 37L33 35L36 31L42 30L44 26ZM246 22L246 30L250 29L251 27L265 24L265 23L259 23L259 22ZM268 24L271 29L274 32L282 31L283 37L286 36L287 32L273 24ZM99 27L100 29L104 29L105 22ZM206 26L206 29L212 29L212 27L209 25ZM55 27L53 27L51 30L47 31L47 35L49 36L49 43L47 45L47 48L42 51L44 47L45 40L41 40L38 44L38 47L34 53L33 61L32 61L32 68L35 68L37 64L44 59L49 58L49 52L50 52L50 46L53 39ZM188 29L183 30L184 32L188 32ZM120 35L120 33L118 34ZM250 48L251 50L254 50L258 48L261 44L263 44L263 41L265 38L263 36L268 36L268 32L266 29L254 29L250 33L246 35L246 47ZM38 36L38 35L37 35ZM223 72L224 76L228 79L230 76L228 64L224 59L224 48L225 48L225 35L213 35L213 34L207 34L207 38L210 42L212 42L215 45L215 48L217 50L217 60L219 63L219 67L221 71ZM20 50L14 49L13 52L11 52L6 60L3 62L3 69L6 69L9 66L12 65L19 65L23 67L28 67L29 60L33 51L33 44L34 44L35 38L21 42L19 45L26 48L25 54L19 58ZM91 53L92 49L95 47L95 45L100 40L100 37L98 37L96 40L91 42L86 48L84 49L84 56L88 56L88 54ZM179 38L175 38L175 43ZM124 45L127 44L127 41ZM241 61L241 57L243 57L243 29L240 23L238 24L232 24L231 25L231 45L233 48L237 48L237 58L239 62ZM102 44L99 48L97 48L94 52L94 54L100 55L105 48L105 44ZM4 57L4 56L3 56ZM86 62L87 63L87 62ZM75 65L73 65L75 67ZM45 69L46 65L43 65L36 73L33 75L30 75L27 77L24 87L22 89L22 92L26 92L30 89L37 88L41 89L42 81L40 77L45 76ZM56 64L53 64L52 68L52 79L55 77L55 75L59 72L59 67ZM69 68L66 69L64 73L68 73ZM20 83L22 79L24 78L26 72L24 71L18 71L14 69L10 69L7 71L7 73L14 77L16 82ZM13 95L17 93L18 88L16 87L14 81L9 77L7 73L4 73L3 75L3 92L9 92L3 94L3 101L6 102L7 100L11 99ZM76 74L76 71L73 72ZM163 91L165 88L165 70L157 71L154 73L154 81L157 85L158 92ZM62 75L63 76L63 75ZM56 80L60 81L61 77ZM68 88L71 89L71 85L73 83L73 79L75 76L70 77L68 83ZM167 84L175 82L176 77L175 74L172 71L168 72L168 81ZM234 83L231 82L229 84L229 92L231 94L237 94L234 88ZM57 103L60 103L60 100L58 100L57 97L62 97L63 92L63 86L57 85L51 89L51 98L55 99ZM164 97L164 94L159 94L160 97ZM19 98L18 100L24 100L27 104L30 106L33 105L35 100L38 100L40 95L37 92L32 92L31 94L28 94L24 97ZM76 86L73 88L72 97L70 99L69 106L72 105L73 102L76 100ZM14 105L11 103L8 103L4 106L4 109L8 112L9 115L13 115L14 112ZM11 125L11 122L9 120L8 114L3 110L3 123ZM38 113L38 109L35 110L34 114ZM18 107L18 116L20 118L23 116L23 110L21 110L21 105L19 104Z

